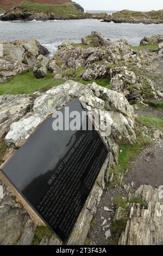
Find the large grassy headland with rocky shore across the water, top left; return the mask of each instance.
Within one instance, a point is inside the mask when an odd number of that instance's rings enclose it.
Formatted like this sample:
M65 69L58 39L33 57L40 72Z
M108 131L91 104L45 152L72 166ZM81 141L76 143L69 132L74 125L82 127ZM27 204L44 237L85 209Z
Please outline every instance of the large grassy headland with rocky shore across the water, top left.
M1 16L2 21L105 19L108 16L105 13L84 13L83 7L71 0L18 2L19 5L8 9L4 15ZM15 1L15 3L17 2Z

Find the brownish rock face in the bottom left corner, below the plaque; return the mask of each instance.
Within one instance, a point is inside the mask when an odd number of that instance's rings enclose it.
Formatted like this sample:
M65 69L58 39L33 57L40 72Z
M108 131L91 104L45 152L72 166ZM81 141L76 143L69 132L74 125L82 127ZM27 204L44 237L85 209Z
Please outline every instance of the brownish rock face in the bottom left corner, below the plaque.
M1 182L0 182L1 183ZM3 187L0 198L0 245L31 245L35 224L30 216Z

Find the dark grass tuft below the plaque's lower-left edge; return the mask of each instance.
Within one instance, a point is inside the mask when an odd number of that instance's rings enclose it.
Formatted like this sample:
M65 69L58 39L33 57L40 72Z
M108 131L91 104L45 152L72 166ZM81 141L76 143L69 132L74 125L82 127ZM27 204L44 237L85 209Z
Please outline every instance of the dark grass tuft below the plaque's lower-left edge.
M51 239L52 235L54 235L54 233L48 227L37 227L34 233L32 245L39 245L44 237Z

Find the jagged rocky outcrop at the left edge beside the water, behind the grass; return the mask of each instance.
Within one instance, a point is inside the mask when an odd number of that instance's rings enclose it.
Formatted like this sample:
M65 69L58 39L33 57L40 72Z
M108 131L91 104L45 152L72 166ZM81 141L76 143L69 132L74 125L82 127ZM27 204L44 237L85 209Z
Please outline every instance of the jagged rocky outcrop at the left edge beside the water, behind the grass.
M12 76L27 72L34 66L39 54L46 55L48 50L37 40L16 40L6 42L1 40L2 57L0 57L0 83Z

